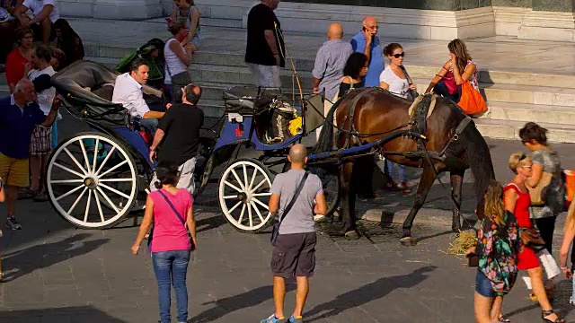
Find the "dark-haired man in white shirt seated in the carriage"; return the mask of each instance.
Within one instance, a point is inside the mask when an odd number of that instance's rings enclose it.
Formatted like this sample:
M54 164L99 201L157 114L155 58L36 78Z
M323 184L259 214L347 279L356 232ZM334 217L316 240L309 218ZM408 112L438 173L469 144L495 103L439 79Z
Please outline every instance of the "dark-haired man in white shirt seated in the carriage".
M158 119L164 112L152 111L144 100L142 84L146 84L149 67L145 60L137 58L130 65L130 72L118 75L114 85L111 101L121 103L132 118L139 118L139 123L155 135Z

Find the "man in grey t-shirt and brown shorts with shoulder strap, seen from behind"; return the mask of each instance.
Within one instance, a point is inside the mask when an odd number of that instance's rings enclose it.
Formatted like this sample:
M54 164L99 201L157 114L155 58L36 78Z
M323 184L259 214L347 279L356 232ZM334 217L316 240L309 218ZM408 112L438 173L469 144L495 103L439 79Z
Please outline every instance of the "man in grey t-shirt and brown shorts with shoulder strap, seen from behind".
M304 165L307 152L303 144L295 144L289 150L288 161L291 170L279 174L271 185L270 212L286 218L279 226L279 236L271 254L273 292L276 310L262 323L301 322L305 299L309 292L308 278L314 275L315 268L315 228L314 213L325 214L327 204L323 196L322 181L314 174L305 179L304 187L296 202L284 214L284 210L296 193L296 188L304 178ZM296 309L291 318L284 317L286 278L296 276Z

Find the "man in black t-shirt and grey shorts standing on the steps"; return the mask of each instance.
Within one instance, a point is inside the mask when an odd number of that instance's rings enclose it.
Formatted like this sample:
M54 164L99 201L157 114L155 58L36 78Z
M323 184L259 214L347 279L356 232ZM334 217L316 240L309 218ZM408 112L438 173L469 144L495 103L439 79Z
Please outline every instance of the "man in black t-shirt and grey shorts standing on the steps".
M278 17L279 0L261 0L248 14L245 62L261 87L281 87L279 67L285 67L285 45Z

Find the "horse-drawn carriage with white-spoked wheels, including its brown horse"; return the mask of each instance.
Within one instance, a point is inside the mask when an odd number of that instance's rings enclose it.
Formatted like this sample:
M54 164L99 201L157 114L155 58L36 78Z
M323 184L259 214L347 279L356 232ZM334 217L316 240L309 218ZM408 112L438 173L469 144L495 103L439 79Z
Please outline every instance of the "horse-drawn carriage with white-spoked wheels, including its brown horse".
M50 203L80 228L110 228L130 211L141 209L155 169L137 122L130 120L121 105L111 102L115 77L101 65L82 61L52 78L66 109L92 129L63 140L50 156L47 170ZM411 225L440 171L451 172L454 230L461 226L461 184L468 168L473 170L477 212L482 216L482 194L488 179L494 177L489 147L475 127L468 127L473 121L456 103L435 95L411 102L381 89L358 89L343 95L323 118L320 95L294 97L290 102L280 92L233 88L224 93L224 116L205 122L195 170L196 195L214 177L215 168L225 164L223 173L216 176L217 199L235 229L262 231L274 221L267 206L273 177L286 170L291 145L301 143L322 125L306 168L323 181L328 214L341 200L346 235L357 232L354 186L358 184L353 185L352 179L358 170L373 169L369 163L376 154L423 168L413 207L403 224L403 241L412 243ZM279 142L274 141L270 124L286 109L299 111L301 127L296 134L283 134ZM332 122L334 115L341 126ZM237 159L241 147L258 156ZM365 186L366 179L370 178L359 179L360 185Z

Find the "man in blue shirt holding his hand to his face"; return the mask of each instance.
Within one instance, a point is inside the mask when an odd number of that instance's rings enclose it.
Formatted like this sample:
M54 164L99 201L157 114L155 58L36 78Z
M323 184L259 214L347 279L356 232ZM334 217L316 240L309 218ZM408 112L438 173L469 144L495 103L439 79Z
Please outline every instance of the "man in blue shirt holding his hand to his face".
M384 72L384 53L377 38L377 20L367 16L363 20L363 28L351 39L353 51L364 53L369 60L369 69L364 79L365 86L379 86L379 74Z

